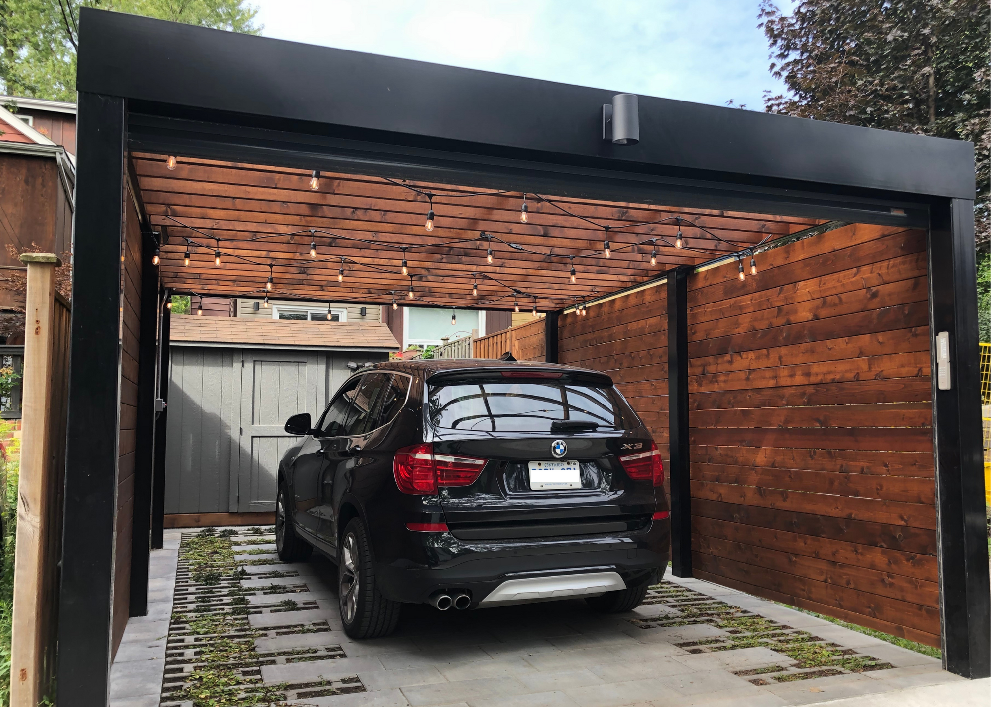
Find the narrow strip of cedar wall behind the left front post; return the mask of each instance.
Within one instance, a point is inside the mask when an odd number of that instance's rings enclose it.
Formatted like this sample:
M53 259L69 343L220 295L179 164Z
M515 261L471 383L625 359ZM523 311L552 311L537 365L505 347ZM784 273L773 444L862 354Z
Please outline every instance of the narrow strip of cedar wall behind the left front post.
M130 193L124 203L121 282L121 419L117 471L117 538L114 546L114 655L131 608L131 543L134 516L135 429L138 409L138 336L141 324L141 225Z

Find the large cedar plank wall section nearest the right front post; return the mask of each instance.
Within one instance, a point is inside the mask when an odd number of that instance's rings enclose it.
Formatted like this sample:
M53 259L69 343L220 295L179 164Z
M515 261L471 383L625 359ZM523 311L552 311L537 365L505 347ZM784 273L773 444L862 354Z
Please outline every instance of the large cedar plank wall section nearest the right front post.
M689 278L694 574L939 646L926 234L757 264Z

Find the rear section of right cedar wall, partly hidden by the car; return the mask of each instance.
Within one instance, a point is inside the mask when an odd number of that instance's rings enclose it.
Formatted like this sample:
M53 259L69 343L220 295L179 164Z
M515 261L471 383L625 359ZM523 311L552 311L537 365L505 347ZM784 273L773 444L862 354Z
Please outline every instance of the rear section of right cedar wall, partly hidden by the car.
M563 315L558 324L558 359L612 376L653 435L665 468L670 460L667 303L667 285L661 284L592 305L584 317ZM670 492L666 477L664 486Z

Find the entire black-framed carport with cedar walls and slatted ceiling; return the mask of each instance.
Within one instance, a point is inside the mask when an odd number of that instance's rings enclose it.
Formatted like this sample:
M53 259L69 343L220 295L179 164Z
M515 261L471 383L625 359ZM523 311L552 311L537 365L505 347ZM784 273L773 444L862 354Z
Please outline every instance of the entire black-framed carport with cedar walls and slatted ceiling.
M146 612L166 291L544 314L539 355L609 372L669 445L674 575L988 674L972 146L80 29L60 703L105 702Z

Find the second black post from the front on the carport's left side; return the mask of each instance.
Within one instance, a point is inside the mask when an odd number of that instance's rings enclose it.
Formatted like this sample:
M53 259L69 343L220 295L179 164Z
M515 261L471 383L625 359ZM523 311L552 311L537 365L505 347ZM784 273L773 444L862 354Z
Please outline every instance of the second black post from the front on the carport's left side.
M125 208L130 208L128 204ZM159 268L152 264L156 242L142 235L141 324L138 342L138 420L135 430L134 518L131 536L131 616L148 614L151 552L152 476L155 448L156 335L159 329Z

